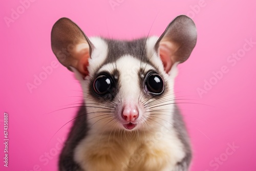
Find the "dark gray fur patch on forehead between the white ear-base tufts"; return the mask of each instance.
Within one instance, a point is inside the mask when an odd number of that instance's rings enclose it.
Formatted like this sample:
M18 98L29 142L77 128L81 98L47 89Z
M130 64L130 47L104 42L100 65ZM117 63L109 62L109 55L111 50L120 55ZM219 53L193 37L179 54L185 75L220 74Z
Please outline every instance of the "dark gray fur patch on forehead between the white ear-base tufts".
M104 40L106 41L106 44L108 44L108 55L106 56L104 64L115 62L123 55L131 55L139 60L142 60L143 62L148 62L145 45L146 38L131 41L112 39Z

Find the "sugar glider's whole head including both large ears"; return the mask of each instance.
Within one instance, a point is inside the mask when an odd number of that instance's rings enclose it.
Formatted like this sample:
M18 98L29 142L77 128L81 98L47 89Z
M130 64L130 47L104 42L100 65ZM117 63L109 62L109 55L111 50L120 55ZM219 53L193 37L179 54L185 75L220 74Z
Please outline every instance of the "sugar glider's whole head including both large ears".
M83 89L87 123L98 131L150 131L172 124L174 78L196 45L189 17L176 17L158 37L90 39L68 18L51 33L52 50Z

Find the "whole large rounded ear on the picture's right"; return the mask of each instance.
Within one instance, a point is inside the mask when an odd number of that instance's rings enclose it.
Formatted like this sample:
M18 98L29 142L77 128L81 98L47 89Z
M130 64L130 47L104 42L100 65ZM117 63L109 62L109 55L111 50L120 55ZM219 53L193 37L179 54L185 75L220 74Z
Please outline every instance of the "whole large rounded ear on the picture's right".
M175 62L182 63L187 60L196 42L197 30L193 20L185 15L176 17L155 45L165 72L168 73Z

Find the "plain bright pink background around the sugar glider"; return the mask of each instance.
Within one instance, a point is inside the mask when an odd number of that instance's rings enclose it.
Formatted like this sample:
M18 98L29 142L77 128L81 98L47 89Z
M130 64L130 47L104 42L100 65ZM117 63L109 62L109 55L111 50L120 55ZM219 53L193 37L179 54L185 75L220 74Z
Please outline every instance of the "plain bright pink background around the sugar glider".
M110 2L118 4L112 8ZM50 46L57 19L71 18L88 36L132 39L147 35L151 26L150 35L160 36L180 14L192 17L198 30L196 48L179 66L176 79L176 95L187 99L179 100L179 106L193 144L191 170L255 170L256 44L250 47L245 40L256 42L256 1L38 0L20 6L19 0L2 1L0 10L0 128L7 112L10 139L6 168L0 131L0 170L57 170L58 141L71 126L63 125L77 110L64 108L76 106L80 86L71 72L57 65L36 89L27 87L34 75L44 76L42 67L57 61ZM11 16L12 9L19 16ZM16 18L8 27L4 17ZM240 53L241 60L228 62L232 53ZM214 78L212 72L222 66L228 72ZM204 89L205 80L214 85L200 97L197 90ZM232 143L237 148L230 151Z

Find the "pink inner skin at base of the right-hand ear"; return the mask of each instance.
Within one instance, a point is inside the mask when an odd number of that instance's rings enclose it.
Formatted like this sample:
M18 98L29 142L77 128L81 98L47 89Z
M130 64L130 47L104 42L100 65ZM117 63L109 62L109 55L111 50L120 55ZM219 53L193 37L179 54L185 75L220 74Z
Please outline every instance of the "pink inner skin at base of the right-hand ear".
M159 55L163 62L164 71L166 73L168 73L170 71L170 68L172 68L172 65L173 65L173 61L171 59L171 54L172 54L172 52L170 52L170 50L165 45L160 44Z

